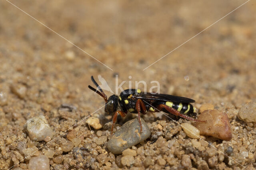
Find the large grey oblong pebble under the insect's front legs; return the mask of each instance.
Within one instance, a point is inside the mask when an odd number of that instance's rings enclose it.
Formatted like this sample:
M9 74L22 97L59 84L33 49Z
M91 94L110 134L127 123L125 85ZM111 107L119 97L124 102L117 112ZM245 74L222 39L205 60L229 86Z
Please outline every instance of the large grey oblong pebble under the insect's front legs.
M120 154L127 148L130 148L150 137L150 129L144 119L141 118L142 132L138 118L127 121L120 129L114 133L108 141L107 147L110 152Z

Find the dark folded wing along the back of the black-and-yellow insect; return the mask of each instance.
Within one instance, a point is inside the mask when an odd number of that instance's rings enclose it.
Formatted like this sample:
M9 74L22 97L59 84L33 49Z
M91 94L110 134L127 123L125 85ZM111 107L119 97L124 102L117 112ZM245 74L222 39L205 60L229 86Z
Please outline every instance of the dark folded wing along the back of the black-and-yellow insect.
M140 96L134 96L134 98L143 99L143 100L162 100L162 101L170 101L170 102L177 102L177 103L194 103L195 100L190 98L185 98L181 96L172 96L169 94L150 94L144 93Z

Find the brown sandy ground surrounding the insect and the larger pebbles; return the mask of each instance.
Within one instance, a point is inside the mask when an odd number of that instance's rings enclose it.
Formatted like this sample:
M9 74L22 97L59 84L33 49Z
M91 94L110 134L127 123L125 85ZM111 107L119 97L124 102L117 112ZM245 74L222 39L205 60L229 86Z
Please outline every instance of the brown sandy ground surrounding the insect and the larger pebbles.
M49 158L50 169L179 169L191 166L197 169L255 169L256 127L237 119L242 105L256 98L254 1L144 71L246 1L11 2L112 70L1 0L0 92L4 96L0 100L0 169L15 164L16 168L26 169L31 156L46 154L48 149L54 150L53 157L62 155L64 158L62 163ZM98 74L113 89L115 75L118 75L119 84L126 81L124 89L128 88L128 81L135 86L135 81L143 80L149 90L150 82L155 80L160 82L161 93L193 98L196 108L212 103L215 109L227 113L233 138L231 141L204 139L230 158L202 140L192 141L179 124L149 113L144 119L152 134L158 136L152 135L144 143L132 147L137 155L134 162L124 166L122 154L114 155L106 149L106 144L95 142L99 136L110 139L108 122L111 121L103 108L96 111L104 106L104 100L87 87L92 85L90 76ZM106 94L111 95L110 92ZM77 109L62 113L61 104L72 104ZM81 151L84 152L82 158L73 151L62 152L61 143L68 141L65 131L91 113L106 117L106 124L98 135L85 121L74 127L82 140L78 147L86 149ZM32 142L24 125L26 120L37 115L47 117L54 137L65 134L47 145L44 141ZM125 120L118 118L118 123L122 125L134 116ZM187 121L180 119L178 122ZM166 128L174 129L172 135L164 131ZM155 142L157 138L160 140ZM29 148L34 147L42 149L28 156ZM232 147L232 152L227 152L228 147ZM22 152L22 148L28 152ZM186 163L188 159L191 166Z

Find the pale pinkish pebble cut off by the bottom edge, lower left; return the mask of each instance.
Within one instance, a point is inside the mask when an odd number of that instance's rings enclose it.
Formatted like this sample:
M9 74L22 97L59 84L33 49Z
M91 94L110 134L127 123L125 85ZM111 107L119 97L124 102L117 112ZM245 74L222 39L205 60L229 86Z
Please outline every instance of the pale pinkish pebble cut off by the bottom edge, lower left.
M28 170L50 170L49 159L45 155L32 157L29 160Z

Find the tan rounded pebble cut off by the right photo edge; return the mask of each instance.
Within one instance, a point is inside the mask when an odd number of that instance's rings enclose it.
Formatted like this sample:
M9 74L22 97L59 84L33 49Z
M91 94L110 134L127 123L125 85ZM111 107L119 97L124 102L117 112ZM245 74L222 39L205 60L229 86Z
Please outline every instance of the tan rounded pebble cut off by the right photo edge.
M245 122L256 122L256 101L243 105L238 112L238 118Z

